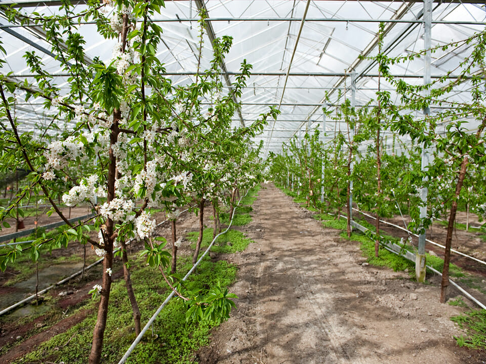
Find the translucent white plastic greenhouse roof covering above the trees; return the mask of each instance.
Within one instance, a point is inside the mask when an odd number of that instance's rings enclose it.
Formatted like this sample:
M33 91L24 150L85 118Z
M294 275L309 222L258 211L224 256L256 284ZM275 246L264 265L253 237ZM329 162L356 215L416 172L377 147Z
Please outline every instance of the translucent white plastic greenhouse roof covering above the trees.
M474 0L472 0L474 1ZM8 4L3 1L0 4ZM25 2L18 0L25 12L36 11L47 15L58 11L53 1ZM23 3L23 4L22 4ZM249 125L269 105L279 105L281 114L276 122L270 122L264 132L254 139L264 141L265 154L279 152L282 143L293 135L301 136L306 128L322 128L325 93L330 94L331 105L339 105L344 97L351 98L351 72L356 74L355 105L364 105L376 98L378 68L371 60L359 60L359 55L374 56L378 52L377 31L379 22L386 22L384 51L398 56L424 49L424 23L422 2L384 1L323 1L312 0L297 43L306 1L270 0L196 0L167 1L161 15L152 19L164 29L164 42L159 45L157 56L165 63L173 84L185 84L194 80L198 54L198 6L206 6L208 24L215 36L230 35L233 47L225 59L230 81L238 72L243 59L253 65L253 75L248 88L241 96L241 118L235 113L233 124ZM83 2L76 3L82 11ZM465 39L484 28L484 5L466 3L433 3L432 45ZM0 14L1 16L2 14ZM387 20L394 19L392 22ZM15 77L30 82L29 69L22 56L35 50L43 55L46 70L58 74L54 81L67 87L67 77L62 75L61 65L49 55L50 44L36 28L10 24L0 18L0 37L7 51L7 65L2 72L13 72ZM84 36L86 54L90 59L99 57L108 62L115 40L105 40L96 33L96 25L83 24L79 32ZM20 38L20 39L19 39ZM35 47L35 48L34 48ZM290 65L293 51L295 55ZM472 48L463 45L458 49L437 51L432 54L432 77L455 69L466 59ZM207 67L212 56L208 30L205 31L203 65ZM89 62L89 60L87 60ZM290 74L284 91L286 73ZM391 67L391 73L407 77L412 83L423 83L424 59L415 59ZM35 83L33 83L35 85ZM223 84L225 80L223 79ZM452 97L470 100L467 84ZM227 88L226 88L227 89ZM381 80L381 89L390 85ZM341 90L341 92L339 92ZM341 97L339 97L341 95ZM392 100L399 100L392 93ZM35 123L49 123L49 111L43 108L43 100L17 95L15 114L22 122L22 130L37 130ZM431 112L434 112L433 107ZM474 125L472 125L474 127ZM327 133L335 128L345 130L342 122L327 122Z

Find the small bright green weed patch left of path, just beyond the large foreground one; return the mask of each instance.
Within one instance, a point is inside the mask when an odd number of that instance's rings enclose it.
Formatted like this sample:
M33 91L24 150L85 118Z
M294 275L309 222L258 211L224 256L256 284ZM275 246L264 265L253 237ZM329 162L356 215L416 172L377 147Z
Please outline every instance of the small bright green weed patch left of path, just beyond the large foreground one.
M191 248L195 249L198 232L191 232L187 234L187 239L189 239L192 244ZM203 231L203 241L201 242L201 249L207 248L209 244L213 241L213 229L205 229ZM215 244L211 248L212 252L215 253L225 253L231 254L240 251L244 251L248 244L253 242L251 239L245 237L245 234L237 230L228 230L227 233L221 235L216 240ZM202 252L201 252L202 253Z

